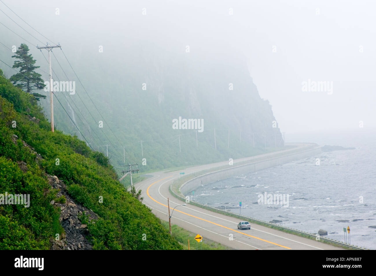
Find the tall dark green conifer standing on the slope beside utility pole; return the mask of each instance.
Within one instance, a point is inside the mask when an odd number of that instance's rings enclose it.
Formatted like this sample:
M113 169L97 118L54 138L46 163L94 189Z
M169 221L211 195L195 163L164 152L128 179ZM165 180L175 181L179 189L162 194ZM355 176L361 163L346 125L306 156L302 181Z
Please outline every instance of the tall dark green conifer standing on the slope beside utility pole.
M29 55L29 47L26 44L21 44L17 52L12 58L19 59L14 62L13 68L20 68L20 73L17 73L9 79L14 85L21 88L23 91L33 94L36 100L39 98L45 99L46 96L39 93L31 93L33 89L43 89L44 82L41 79L41 74L34 70L40 66L35 66L36 60L32 55Z

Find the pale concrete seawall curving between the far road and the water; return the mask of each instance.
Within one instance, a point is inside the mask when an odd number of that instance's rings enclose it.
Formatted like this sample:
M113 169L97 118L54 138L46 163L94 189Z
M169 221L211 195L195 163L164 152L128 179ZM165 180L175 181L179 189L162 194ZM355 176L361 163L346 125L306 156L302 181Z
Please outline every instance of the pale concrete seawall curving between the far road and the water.
M207 183L215 182L217 180L227 179L229 177L237 176L243 173L254 172L258 170L262 170L265 168L275 167L281 164L285 164L291 161L296 161L299 159L311 157L314 155L318 155L321 153L321 147L317 145L317 147L310 149L302 148L299 152L294 153L286 153L283 156L271 157L262 161L257 162L250 162L249 164L239 165L239 166L229 166L227 169L214 171L211 173L203 174L202 176L195 177L191 180L188 180L180 187L180 192L183 195L186 195L188 192L196 189L200 185L205 185Z

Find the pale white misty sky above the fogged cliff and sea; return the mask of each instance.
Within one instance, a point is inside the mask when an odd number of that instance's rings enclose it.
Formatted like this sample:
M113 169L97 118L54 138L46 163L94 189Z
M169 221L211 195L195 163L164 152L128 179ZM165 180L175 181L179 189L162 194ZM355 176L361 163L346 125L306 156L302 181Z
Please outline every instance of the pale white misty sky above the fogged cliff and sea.
M282 132L359 130L359 121L376 127L372 1L2 1L67 53L90 56L98 45L106 51L143 40L182 51L190 45L191 52L204 49L218 58L242 55ZM15 18L2 3L0 9ZM1 12L0 21L30 37ZM2 25L0 34L11 38L0 39L8 47L23 42ZM0 49L9 61L11 53ZM303 92L308 79L333 82L333 93Z

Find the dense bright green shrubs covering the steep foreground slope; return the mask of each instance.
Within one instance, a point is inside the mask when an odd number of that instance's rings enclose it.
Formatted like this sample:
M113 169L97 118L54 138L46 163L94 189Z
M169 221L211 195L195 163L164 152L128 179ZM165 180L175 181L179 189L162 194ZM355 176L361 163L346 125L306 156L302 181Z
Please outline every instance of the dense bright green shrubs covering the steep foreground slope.
M27 171L21 171L17 161L26 162ZM88 223L94 249L182 248L150 209L124 190L108 158L93 152L76 136L59 130L52 133L35 97L13 86L1 70L0 167L0 194L30 194L29 208L0 205L0 249L49 249L50 239L64 232L59 211L50 201L65 199L56 198L45 173L58 176L76 203L99 215Z

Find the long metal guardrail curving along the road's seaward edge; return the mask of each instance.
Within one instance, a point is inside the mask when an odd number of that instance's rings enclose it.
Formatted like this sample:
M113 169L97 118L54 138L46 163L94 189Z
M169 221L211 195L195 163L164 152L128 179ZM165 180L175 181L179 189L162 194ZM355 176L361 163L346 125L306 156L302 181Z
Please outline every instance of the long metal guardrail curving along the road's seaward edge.
M314 148L315 149L315 148ZM313 149L309 149L309 150L313 150ZM308 150L306 150L308 151ZM302 151L302 152L305 152L305 151ZM294 153L292 153L294 154ZM279 156L280 157L280 156ZM279 158L279 157L275 157L275 158ZM266 159L266 160L262 160L262 161L258 161L258 162L265 162L267 160L271 160L271 159L275 159L275 158L270 158L270 159ZM254 162L254 163L258 163L258 162ZM245 166L245 165L250 165L250 164L253 164L253 163L249 163L249 164L244 164L244 165L239 165L239 166L235 166L233 168L236 168L236 167L241 167L241 166ZM223 169L223 170L228 170L229 168L227 169ZM230 168L232 169L232 168ZM218 170L218 171L223 171L223 170ZM209 172L209 173L205 173L205 174L202 174L200 176L196 176L196 177L193 177L192 179L189 179L187 180L186 182L184 182L182 185L180 185L180 188L183 187L186 183L194 180L194 179L197 179L199 177L202 177L202 176L205 176L205 175L208 175L208 174L212 174L212 173L216 173L218 171L212 171L212 172ZM190 173L190 174L186 174L186 176L188 175L191 175L193 173ZM172 189L172 185L173 183L171 183L170 185L170 193L172 193L175 197L179 198L180 200L183 200L185 201L185 197L182 197L178 194L176 194L173 189ZM179 191L180 191L180 188L179 188ZM288 230L288 231L291 231L291 232L294 232L296 234L302 234L302 235L306 235L308 237L312 237L312 238L316 238L316 235L314 234L310 234L310 233L307 233L307 232L303 232L303 231L300 231L300 230L297 230L297 229L293 229L293 228L289 228L289 227L285 227L285 226L280 226L278 224L274 224L274 223L270 223L270 222L266 222L266 221L263 221L263 220L258 220L256 218L251 218L251 217L247 217L247 216L244 216L244 215L238 215L238 214L235 214L235 213L232 213L232 212L228 212L228 211L223 211L221 209L218 209L218 208L214 208L214 207L210 207L210 206L206 206L206 205L203 205L201 203L198 203L198 202L194 202L192 200L190 200L190 202L193 202L195 205L198 205L199 207L202 206L204 209L211 209L213 211L220 211L220 212L223 212L225 213L226 215L232 215L232 216L236 216L236 217L239 217L241 219L246 219L246 220L250 220L250 221L254 221L254 222L258 222L258 223L261 223L261 224L264 224L264 225L267 225L267 226L272 226L272 227L279 227L279 228L282 228L282 229L285 229L285 230ZM368 250L366 248L363 248L363 247L358 247L358 246L354 246L354 245L351 245L351 244L347 244L347 243L343 243L341 241L337 241L337 240L332 240L332 239L329 239L329 238L323 238L320 236L320 240L324 240L324 241L328 241L330 243L334 243L334 244L338 244L340 246L345 246L345 247L349 247L349 248L352 248L352 249L356 249L356 250Z

